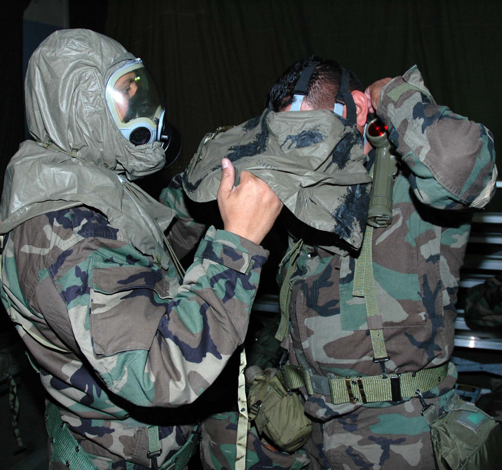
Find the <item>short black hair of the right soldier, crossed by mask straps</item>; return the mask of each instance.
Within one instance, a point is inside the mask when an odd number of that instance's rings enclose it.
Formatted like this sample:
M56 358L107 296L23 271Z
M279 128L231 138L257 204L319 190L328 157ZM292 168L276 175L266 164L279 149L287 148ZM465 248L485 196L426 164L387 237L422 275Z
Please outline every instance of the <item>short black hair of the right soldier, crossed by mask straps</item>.
M312 76L305 100L314 109L333 109L336 94L340 88L342 77L342 66L336 60L324 60L322 57L313 55L308 59L301 59L291 64L286 71L270 87L265 99L265 106L272 111L282 111L293 101L293 90L296 82L305 67L311 62L319 62ZM357 76L348 71L349 91L364 91L362 83Z

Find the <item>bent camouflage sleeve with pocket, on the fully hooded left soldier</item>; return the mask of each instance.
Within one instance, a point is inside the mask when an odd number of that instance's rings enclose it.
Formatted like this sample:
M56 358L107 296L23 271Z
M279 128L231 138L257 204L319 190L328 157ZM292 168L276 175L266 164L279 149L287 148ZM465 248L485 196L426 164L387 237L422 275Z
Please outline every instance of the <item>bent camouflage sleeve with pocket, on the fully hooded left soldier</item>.
M169 407L193 402L243 342L267 256L210 227L174 297L173 277L119 240L81 240L48 274L67 310L58 321L69 320L79 354L107 388ZM48 295L45 284L37 297Z

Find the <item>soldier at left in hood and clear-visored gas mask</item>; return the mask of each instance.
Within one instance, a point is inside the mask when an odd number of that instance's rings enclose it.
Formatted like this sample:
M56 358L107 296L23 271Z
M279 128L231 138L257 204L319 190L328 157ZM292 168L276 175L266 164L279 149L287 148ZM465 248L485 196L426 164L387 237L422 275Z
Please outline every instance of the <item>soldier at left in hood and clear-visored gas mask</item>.
M234 188L224 160L225 229L185 273L164 235L176 209L130 181L181 146L141 59L57 31L25 92L35 141L6 171L1 294L48 392L50 468L183 468L200 436L191 403L243 341L282 203L250 174Z

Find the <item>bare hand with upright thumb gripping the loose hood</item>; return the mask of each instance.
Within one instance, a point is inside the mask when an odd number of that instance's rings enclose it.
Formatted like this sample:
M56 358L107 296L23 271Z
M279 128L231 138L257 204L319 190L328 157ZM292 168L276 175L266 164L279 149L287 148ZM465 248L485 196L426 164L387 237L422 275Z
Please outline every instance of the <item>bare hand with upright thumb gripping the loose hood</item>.
M274 225L283 203L267 183L243 171L233 187L235 169L230 160L221 161L221 182L217 200L225 230L260 244Z

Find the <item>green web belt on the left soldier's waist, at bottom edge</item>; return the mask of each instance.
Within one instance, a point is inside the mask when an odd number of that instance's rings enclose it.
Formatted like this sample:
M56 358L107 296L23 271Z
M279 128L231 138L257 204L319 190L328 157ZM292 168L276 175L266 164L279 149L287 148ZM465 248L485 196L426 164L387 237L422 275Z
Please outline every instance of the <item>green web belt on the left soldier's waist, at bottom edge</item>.
M90 456L80 447L78 441L66 427L66 424L61 419L59 408L54 403L48 403L44 417L45 426L54 452L67 467L74 470L98 470L98 467L94 465ZM161 466L157 466L157 461L155 459L154 462L153 457L160 455L162 452L159 442L159 428L157 426L148 426L148 456L152 458L152 468L156 470L182 470L185 468L195 453L199 436L200 424L194 427L192 434L190 434L185 444L167 462L164 462Z

